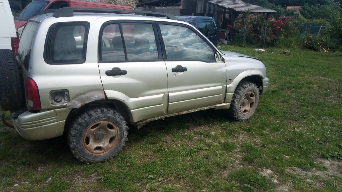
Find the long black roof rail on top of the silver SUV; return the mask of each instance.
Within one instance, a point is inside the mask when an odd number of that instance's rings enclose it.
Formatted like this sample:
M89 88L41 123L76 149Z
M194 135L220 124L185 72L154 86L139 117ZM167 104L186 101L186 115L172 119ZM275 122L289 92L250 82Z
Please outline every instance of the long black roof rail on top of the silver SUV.
M144 13L144 14L150 14L150 15L158 15L167 17L168 19L173 20L180 20L179 18L167 14L167 13L159 13L159 12L153 12L153 11L142 11L142 10L125 10L125 9L97 9L97 8L75 8L75 7L65 7L60 8L54 11L53 17L73 17L74 12L82 12L82 13L124 13L124 14L130 14L130 13Z

